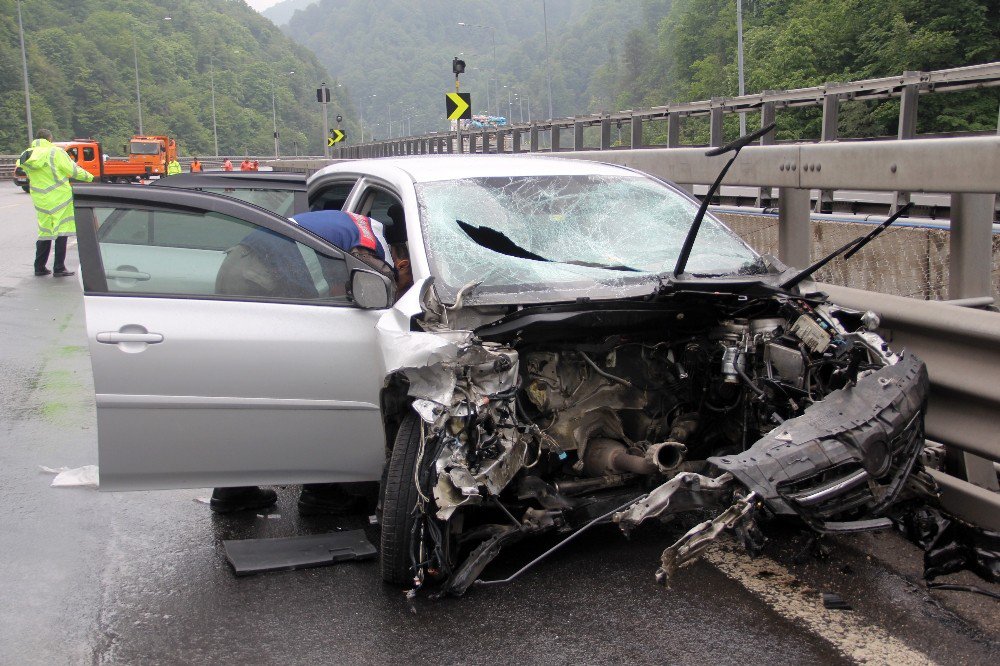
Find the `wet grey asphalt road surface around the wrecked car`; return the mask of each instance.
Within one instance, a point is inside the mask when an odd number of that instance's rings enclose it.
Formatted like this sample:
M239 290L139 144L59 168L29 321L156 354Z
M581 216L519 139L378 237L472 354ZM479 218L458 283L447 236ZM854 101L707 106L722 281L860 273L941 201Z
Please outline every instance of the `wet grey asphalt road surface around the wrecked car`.
M201 503L208 489L49 487L40 465L97 463L97 428L80 284L31 276L33 251L29 199L0 183L0 663L851 661L707 562L669 590L656 585L660 551L680 527L631 541L598 528L511 585L411 603L374 561L235 577L224 539L360 528L378 543L364 515L300 518L295 487L279 490L270 515L227 517ZM769 554L936 661L997 663L996 635L928 598L912 571L873 559L873 538L910 548L866 536L795 564L804 540L789 531ZM512 548L486 575L551 543Z

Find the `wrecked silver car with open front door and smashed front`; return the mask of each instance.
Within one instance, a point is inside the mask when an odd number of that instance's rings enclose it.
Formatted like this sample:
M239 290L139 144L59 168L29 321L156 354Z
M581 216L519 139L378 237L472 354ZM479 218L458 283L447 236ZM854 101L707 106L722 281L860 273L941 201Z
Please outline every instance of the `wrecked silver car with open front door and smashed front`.
M225 191L76 188L102 488L379 480L385 580L462 594L533 534L711 511L665 580L723 530L883 529L928 487L923 363L710 215L689 234L668 183L440 155L305 190L386 223L415 284Z

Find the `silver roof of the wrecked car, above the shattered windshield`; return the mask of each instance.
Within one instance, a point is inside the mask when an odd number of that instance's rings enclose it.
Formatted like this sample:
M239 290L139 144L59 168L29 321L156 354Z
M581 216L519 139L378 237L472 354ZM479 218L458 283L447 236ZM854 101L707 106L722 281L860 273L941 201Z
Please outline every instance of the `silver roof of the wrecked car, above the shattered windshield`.
M386 171L401 171L417 183L514 175L636 175L630 169L613 164L545 155L414 155L410 157L378 157L331 164L317 171L312 178L345 171L361 171L376 175Z

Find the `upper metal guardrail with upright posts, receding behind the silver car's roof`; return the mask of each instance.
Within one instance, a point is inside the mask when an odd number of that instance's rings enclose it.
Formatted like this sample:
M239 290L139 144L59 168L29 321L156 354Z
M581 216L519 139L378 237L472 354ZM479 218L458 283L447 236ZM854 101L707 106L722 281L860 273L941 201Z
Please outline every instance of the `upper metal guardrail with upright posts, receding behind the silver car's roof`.
M917 107L920 95L930 93L956 92L976 88L1000 86L1000 62L937 70L933 72L903 72L899 76L848 83L827 83L812 88L773 91L767 90L740 97L719 97L696 102L678 102L649 109L616 111L614 113L589 114L571 118L557 118L534 123L519 123L493 129L470 129L462 131L461 142L456 141L455 132L439 132L418 137L404 137L385 141L374 141L337 150L338 157L389 157L444 152L560 152L587 150L585 130L599 126L600 138L592 149L639 149L647 147L643 143L643 124L651 121L667 121L667 148L681 146L681 125L685 118L709 117L709 145L721 146L723 138L723 117L732 113L759 112L761 125L775 119L778 110L821 106L823 122L821 141L838 139L837 123L841 102L851 100L900 99L898 139L917 137ZM622 128L629 125L628 145L615 146L612 142L612 126ZM1000 129L1000 128L998 128ZM572 147L563 141L563 132L572 130ZM539 135L547 135L547 147L542 148ZM762 145L774 143L765 137ZM900 199L904 200L905 196ZM822 202L821 202L822 204Z

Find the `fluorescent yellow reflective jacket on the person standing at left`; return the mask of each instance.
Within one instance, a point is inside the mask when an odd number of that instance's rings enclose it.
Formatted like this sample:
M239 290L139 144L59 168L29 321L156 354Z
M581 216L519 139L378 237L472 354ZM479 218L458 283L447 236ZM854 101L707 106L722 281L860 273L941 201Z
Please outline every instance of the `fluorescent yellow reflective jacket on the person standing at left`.
M73 187L69 179L90 182L94 177L81 169L66 151L46 139L35 139L21 154L21 168L31 185L31 200L38 213L38 238L49 240L76 233L73 218Z

